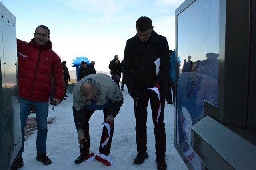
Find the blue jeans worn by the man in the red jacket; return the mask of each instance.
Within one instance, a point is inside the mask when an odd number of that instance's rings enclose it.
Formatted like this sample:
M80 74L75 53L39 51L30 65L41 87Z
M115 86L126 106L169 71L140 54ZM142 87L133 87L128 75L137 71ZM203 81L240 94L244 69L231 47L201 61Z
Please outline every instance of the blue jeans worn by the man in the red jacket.
M28 112L31 105L34 104L34 111L36 113L37 123L37 137L36 137L36 149L38 154L46 152L46 139L47 139L47 117L49 112L49 102L34 102L32 100L26 100L20 97L20 122L22 133L22 147L20 148L16 158L22 156L24 151L24 128L28 118Z

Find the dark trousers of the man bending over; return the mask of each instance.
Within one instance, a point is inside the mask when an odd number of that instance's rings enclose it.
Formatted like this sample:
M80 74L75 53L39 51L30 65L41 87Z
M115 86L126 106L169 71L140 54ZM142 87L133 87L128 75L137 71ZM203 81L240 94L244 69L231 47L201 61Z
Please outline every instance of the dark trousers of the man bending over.
M84 123L84 132L83 133L84 133L84 136L85 136L87 142L86 142L86 146L82 150L80 150L80 153L84 153L85 155L88 155L90 153L89 120L93 113L94 113L94 111L90 111L90 110L86 109L86 113L84 115L86 121ZM104 122L106 121L107 113L108 113L108 108L103 109ZM110 148L111 148L111 142L112 142L112 138L113 138L113 133L114 133L114 122L113 122L113 126L110 130L110 137L109 137L108 143L104 147L101 147L101 145L99 147L100 154L103 153L105 155L109 155ZM108 129L104 126L102 128L102 135L101 135L100 141L102 141L102 139L104 139L107 135L108 135Z

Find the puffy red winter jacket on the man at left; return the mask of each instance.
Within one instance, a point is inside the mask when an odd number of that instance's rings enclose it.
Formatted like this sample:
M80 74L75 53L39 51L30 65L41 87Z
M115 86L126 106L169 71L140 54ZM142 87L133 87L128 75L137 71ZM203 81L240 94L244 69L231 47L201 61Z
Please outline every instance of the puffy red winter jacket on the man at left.
M64 72L60 57L51 50L52 42L38 45L17 39L19 95L27 100L48 102L54 77L54 98L63 100Z

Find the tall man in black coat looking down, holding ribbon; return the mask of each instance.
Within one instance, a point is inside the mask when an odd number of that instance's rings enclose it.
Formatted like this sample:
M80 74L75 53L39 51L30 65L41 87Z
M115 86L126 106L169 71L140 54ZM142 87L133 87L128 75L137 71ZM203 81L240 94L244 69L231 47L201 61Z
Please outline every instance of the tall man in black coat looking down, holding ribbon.
M164 101L166 79L170 70L169 47L166 37L153 31L152 21L146 16L136 21L137 34L127 40L124 50L123 72L127 88L134 100L134 113L136 118L136 143L138 154L134 164L142 164L148 158L147 150L147 106L150 100L154 134L156 140L156 162L158 169L166 169L165 151L166 134L164 123ZM154 62L160 57L160 71L156 74ZM154 88L160 86L160 114L158 119L158 98L152 94ZM159 108L159 106L158 106Z

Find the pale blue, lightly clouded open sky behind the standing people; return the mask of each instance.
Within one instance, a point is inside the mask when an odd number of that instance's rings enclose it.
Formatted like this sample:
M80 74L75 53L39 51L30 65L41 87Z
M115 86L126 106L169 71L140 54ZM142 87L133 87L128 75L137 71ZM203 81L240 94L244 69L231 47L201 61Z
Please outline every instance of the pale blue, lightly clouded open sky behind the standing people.
M16 17L17 38L29 42L35 28L50 29L52 49L67 62L76 57L95 61L95 69L110 71L109 62L123 59L126 41L136 34L140 16L151 18L154 31L175 48L175 10L184 0L0 0Z

